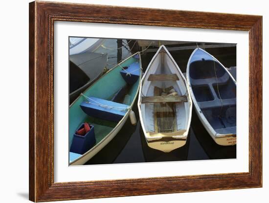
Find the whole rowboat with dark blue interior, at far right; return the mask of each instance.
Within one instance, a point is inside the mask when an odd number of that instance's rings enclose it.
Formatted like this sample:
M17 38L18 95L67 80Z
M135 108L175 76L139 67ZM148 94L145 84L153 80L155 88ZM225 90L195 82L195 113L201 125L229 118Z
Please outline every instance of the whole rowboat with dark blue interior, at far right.
M208 62L211 64L213 63L214 66L211 65L208 67L215 68L215 72L214 69L210 69L210 71L208 71L206 68L201 66L201 68L198 69L198 73L195 73L195 71L190 68L191 63L193 62L200 64ZM210 76L206 75L209 73L211 74ZM193 74L193 76L191 76L191 74ZM208 134L219 145L235 145L236 81L232 75L215 57L201 48L196 48L190 56L186 75L195 111ZM206 83L206 86L203 83ZM227 87L230 89L224 92L223 87L227 84L229 85ZM206 93L206 91L202 90L197 91L196 87L200 89L202 87L206 87L208 92ZM222 91L226 93L226 95ZM228 111L228 109L230 109L230 111ZM228 120L229 117L232 119ZM220 126L219 123L223 126L226 124L227 127L217 128L216 126ZM213 128L212 125L215 127Z

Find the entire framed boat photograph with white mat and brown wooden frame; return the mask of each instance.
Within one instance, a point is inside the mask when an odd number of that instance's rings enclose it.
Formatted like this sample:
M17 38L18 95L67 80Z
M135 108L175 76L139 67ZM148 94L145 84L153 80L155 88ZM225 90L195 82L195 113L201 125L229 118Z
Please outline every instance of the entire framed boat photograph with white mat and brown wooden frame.
M262 186L261 16L34 1L29 74L31 201Z

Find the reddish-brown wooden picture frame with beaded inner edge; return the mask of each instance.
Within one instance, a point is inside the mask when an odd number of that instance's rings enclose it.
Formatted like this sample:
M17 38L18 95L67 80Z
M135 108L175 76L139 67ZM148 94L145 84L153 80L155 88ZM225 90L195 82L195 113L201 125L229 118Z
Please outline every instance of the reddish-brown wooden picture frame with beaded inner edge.
M54 183L53 27L55 21L248 31L249 172ZM31 2L29 4L29 84L29 199L33 202L262 187L261 16Z

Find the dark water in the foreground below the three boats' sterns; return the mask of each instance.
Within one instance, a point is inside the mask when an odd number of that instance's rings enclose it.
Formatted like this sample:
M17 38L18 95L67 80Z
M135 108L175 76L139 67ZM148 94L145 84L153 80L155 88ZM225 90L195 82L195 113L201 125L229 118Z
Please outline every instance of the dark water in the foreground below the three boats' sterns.
M137 109L134 112L138 116ZM86 164L236 158L236 146L216 144L193 112L191 129L183 147L170 153L152 149L146 143L140 121L133 126L128 120L112 141Z

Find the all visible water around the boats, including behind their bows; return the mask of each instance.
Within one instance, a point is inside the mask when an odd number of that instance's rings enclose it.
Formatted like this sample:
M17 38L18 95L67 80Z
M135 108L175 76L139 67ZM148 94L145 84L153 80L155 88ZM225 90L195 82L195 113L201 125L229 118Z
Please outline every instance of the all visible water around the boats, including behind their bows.
M116 48L117 42L116 40L106 40L105 46ZM130 56L131 52L129 50L124 48L122 56ZM182 72L185 72L186 70L187 61L192 51L193 50L180 50L170 52ZM225 67L236 66L236 47L208 48L206 51L214 55ZM117 50L107 50L100 47L97 52L107 52L109 54L109 68L112 68L117 63ZM148 66L148 63L151 61L154 54L155 53L144 53L142 55L143 68ZM137 103L137 99L135 103ZM130 119L128 119L123 128L112 139L112 141L86 164L236 158L236 145L220 146L216 144L204 129L194 108L192 111L191 128L187 138L187 143L183 147L173 150L170 153L164 153L148 147L138 119L137 105L134 105L133 111L136 115L136 119L138 120L137 125L132 125Z

